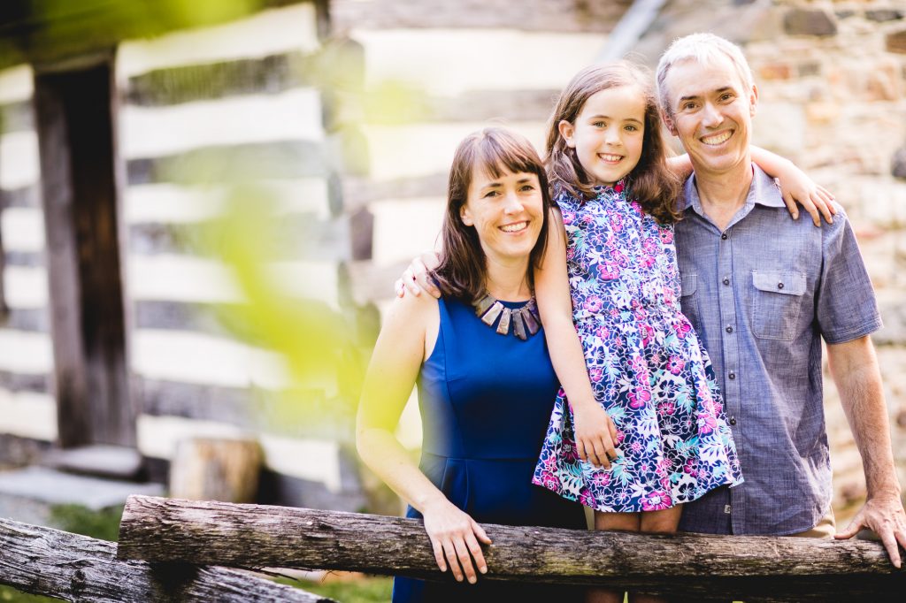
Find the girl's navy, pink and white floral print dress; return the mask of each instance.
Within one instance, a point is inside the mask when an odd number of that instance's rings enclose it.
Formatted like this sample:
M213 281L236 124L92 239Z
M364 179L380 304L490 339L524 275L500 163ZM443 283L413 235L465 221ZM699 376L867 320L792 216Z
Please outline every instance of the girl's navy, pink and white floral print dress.
M626 198L626 185L582 202L558 191L573 322L594 396L618 431L611 468L583 462L561 388L533 483L603 512L689 503L742 483L714 371L679 308L671 225Z

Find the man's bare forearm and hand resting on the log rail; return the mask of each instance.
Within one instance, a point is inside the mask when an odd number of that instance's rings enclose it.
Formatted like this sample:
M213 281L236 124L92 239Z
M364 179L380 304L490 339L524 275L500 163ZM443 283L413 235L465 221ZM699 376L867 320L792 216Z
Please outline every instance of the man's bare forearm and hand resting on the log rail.
M868 497L863 508L837 539L852 538L869 528L881 538L893 565L901 567L897 543L906 549L906 512L893 464L891 430L872 340L866 335L828 344L828 362L843 411L862 455Z

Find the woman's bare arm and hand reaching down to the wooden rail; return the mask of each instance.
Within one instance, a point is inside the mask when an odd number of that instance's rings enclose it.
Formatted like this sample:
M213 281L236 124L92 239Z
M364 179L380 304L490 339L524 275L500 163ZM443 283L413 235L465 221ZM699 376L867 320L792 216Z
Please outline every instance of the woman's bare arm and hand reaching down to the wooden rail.
M434 558L441 571L449 563L453 576L476 581L487 563L478 541L490 539L469 515L419 471L410 454L393 435L426 357L426 340L437 340L438 302L427 295L397 299L374 346L362 387L356 417L356 447L362 461L390 488L425 517ZM461 568L460 568L461 566Z

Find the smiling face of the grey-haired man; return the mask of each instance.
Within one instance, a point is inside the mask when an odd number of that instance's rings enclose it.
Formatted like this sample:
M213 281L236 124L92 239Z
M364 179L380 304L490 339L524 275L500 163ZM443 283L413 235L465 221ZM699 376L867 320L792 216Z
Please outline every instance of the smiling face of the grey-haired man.
M694 60L670 67L664 123L679 137L697 175L726 174L751 162L755 86L743 83L733 63L719 56L708 64Z

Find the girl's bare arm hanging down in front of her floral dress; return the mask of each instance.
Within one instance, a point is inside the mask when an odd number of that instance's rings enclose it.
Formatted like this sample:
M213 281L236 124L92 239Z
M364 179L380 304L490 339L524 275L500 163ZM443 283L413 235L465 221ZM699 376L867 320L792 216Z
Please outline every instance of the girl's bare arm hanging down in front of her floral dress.
M573 326L573 301L566 274L566 237L563 217L551 211L541 268L535 270L535 296L545 325L547 349L566 392L575 419L575 440L583 461L610 467L616 458L617 430L611 417L594 399L585 368L582 342Z

